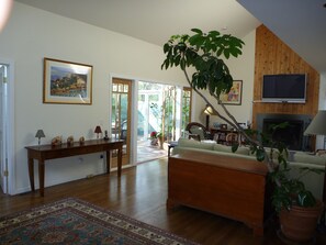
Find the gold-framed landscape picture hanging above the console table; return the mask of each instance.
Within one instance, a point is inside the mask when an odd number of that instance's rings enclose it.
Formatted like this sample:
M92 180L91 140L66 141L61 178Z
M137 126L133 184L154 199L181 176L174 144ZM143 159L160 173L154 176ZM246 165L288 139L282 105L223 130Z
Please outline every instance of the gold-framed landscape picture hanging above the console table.
M44 103L92 103L90 65L44 58Z

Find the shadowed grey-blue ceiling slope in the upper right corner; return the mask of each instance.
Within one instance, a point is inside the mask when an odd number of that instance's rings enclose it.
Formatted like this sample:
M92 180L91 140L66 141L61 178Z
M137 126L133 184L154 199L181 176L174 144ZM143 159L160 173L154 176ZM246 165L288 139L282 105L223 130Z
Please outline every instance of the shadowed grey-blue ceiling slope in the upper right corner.
M326 0L238 0L319 73L326 73Z

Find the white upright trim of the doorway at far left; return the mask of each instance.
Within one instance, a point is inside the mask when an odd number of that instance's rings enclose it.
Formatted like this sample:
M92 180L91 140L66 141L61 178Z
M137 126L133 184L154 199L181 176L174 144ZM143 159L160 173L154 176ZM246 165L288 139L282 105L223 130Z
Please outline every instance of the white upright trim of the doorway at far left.
M14 157L14 62L11 59L0 58L1 64L9 65L8 76L8 125L7 125L7 156L8 156L8 193L15 194L15 157Z

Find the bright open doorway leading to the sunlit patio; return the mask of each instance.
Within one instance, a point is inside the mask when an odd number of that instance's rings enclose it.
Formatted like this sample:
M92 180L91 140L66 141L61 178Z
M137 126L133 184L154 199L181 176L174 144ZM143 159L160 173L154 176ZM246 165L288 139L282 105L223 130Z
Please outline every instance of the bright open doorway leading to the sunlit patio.
M191 89L138 81L137 163L167 156L191 118ZM157 141L155 135L159 135Z

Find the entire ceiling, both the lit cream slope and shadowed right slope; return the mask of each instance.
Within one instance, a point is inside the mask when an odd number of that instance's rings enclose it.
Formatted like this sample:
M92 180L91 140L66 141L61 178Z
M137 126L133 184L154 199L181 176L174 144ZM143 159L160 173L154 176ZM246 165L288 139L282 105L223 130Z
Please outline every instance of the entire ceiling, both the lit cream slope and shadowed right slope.
M15 1L159 46L193 27L241 38L263 23L315 69L326 71L326 0Z

